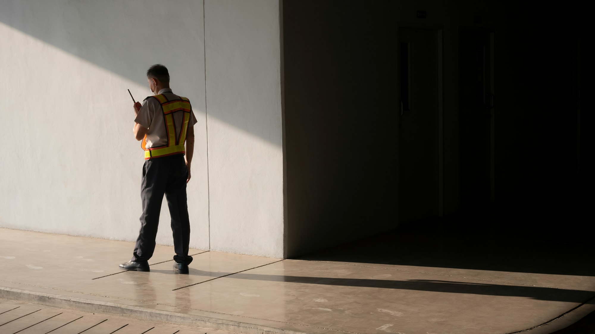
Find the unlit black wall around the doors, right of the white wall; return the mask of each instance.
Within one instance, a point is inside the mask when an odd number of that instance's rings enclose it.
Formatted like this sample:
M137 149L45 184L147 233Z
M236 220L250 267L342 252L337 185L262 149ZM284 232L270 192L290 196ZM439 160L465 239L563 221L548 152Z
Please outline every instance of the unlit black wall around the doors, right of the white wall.
M559 242L560 252L593 245L586 12L553 1L436 2L424 6L441 12L423 21L410 5L283 2L287 256L408 230ZM444 36L444 207L411 222L402 215L422 182L399 156L430 153L402 137L400 102L405 115L414 103L402 87L407 27Z

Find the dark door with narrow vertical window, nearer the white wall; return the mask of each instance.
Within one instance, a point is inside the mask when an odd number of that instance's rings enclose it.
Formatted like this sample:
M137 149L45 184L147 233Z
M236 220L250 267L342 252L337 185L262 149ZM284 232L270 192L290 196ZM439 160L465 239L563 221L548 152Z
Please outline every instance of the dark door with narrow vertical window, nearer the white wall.
M399 225L439 215L440 33L399 28Z

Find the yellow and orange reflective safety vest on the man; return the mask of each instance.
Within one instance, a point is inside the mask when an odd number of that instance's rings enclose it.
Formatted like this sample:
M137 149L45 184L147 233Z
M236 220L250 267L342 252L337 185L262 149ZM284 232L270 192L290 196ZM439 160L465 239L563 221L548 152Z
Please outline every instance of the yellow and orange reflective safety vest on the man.
M192 107L190 106L190 100L186 97L181 97L179 100L167 100L164 94L158 94L155 96L149 96L147 99L155 97L161 105L163 112L163 118L165 123L165 130L167 131L167 144L146 148L146 139L143 138L140 147L145 150L145 160L149 160L155 157L162 157L168 155L179 155L186 153L184 148L184 142L186 141L186 133L188 131L188 124L190 123L190 116ZM145 99L146 100L146 99ZM183 112L184 122L181 127L180 133L176 133L176 122L174 122L174 113Z

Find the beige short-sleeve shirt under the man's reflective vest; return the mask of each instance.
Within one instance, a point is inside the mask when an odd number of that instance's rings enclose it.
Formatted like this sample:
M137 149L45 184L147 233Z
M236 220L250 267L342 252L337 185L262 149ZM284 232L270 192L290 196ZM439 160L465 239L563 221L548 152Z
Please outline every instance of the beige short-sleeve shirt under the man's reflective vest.
M180 96L171 92L170 88L159 90L157 94L164 94L168 100L179 100ZM174 112L174 123L176 124L176 134L180 134L183 123L183 112ZM188 123L189 127L196 124L196 116L194 111L190 111L191 117ZM143 101L140 107L139 114L134 119L134 122L140 124L141 127L148 129L146 148L158 147L167 145L167 129L165 128L165 117L161 110L161 103L157 99L148 97Z

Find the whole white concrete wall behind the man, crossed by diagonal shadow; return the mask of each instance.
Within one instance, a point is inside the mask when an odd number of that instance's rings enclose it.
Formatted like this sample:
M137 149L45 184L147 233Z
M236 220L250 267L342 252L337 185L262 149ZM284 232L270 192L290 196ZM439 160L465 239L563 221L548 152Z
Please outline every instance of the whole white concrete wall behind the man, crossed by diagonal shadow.
M280 256L278 3L206 8L211 247ZM144 161L126 89L142 101L161 63L198 118L190 245L209 248L203 2L3 0L0 36L0 226L136 239ZM169 220L164 201L158 243Z

